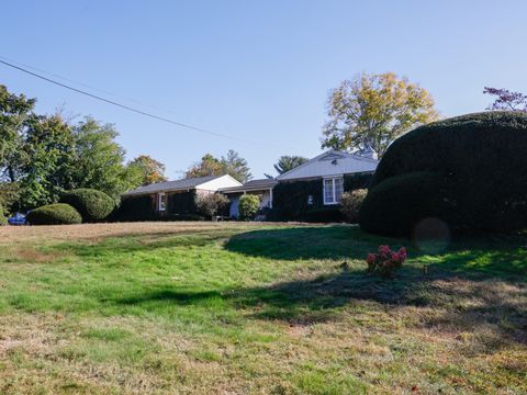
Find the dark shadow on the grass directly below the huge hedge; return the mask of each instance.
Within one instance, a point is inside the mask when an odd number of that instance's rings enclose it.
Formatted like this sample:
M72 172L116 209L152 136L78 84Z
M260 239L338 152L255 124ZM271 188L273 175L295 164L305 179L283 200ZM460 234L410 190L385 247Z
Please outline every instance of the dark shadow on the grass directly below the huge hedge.
M382 244L408 248L414 262L445 273L471 276L525 276L527 237L495 236L451 242L436 255L427 255L413 240L368 235L357 226L293 227L253 230L235 235L225 244L229 251L250 257L299 259L366 259Z

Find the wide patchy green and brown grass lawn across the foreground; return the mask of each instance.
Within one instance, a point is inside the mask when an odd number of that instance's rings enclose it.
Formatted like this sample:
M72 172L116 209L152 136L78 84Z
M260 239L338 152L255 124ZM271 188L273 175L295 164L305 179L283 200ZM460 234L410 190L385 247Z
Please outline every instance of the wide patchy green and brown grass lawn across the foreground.
M380 244L408 247L394 280L365 272ZM8 227L0 272L1 394L527 393L527 238Z

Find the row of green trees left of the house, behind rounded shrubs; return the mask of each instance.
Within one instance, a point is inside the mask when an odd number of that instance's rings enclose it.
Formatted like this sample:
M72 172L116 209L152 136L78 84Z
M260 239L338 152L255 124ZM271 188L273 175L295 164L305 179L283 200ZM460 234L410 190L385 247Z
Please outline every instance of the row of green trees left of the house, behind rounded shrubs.
M78 188L119 198L165 179L165 166L146 155L125 161L113 125L37 114L35 103L0 86L0 203L10 211L55 203Z

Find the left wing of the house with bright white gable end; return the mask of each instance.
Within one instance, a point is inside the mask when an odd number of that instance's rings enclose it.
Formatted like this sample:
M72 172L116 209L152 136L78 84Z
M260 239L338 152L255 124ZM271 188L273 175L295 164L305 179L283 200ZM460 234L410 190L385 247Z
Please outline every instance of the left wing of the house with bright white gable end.
M150 219L193 215L198 213L197 194L215 193L223 188L240 185L240 182L225 174L139 187L121 196L120 217L121 219Z

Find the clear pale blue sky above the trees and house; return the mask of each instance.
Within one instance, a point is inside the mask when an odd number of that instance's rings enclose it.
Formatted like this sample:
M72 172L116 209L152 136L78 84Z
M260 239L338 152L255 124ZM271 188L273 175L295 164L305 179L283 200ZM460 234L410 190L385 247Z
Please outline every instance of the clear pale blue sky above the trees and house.
M483 110L484 86L527 92L522 0L33 0L3 2L1 14L0 56L253 142L168 125L0 66L0 83L36 97L40 112L64 106L115 124L128 158L150 155L171 179L229 148L257 178L280 155L317 155L329 89L360 71L419 82L442 116Z

